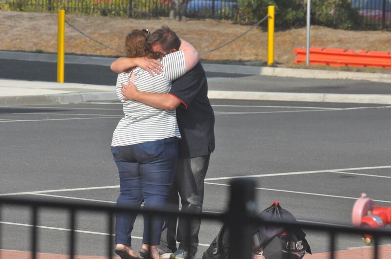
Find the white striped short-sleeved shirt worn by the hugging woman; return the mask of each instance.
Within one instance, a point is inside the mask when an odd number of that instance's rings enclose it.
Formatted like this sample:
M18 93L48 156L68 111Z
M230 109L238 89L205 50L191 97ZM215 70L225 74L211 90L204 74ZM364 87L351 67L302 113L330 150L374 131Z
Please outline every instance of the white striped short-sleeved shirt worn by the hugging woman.
M128 146L170 137L180 138L175 109L158 109L134 100L122 100L124 96L121 94L121 84L127 84L127 80L132 81L141 92L168 93L171 82L186 73L183 51L166 55L161 63L163 72L155 74L154 77L140 67L133 69L134 80L131 80L130 73L118 74L115 92L122 102L125 116L114 130L111 146Z

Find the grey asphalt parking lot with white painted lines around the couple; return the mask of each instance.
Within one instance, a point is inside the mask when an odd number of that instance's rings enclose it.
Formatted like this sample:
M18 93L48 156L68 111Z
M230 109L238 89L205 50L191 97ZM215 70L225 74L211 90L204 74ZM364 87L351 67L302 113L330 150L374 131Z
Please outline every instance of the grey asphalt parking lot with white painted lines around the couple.
M204 211L222 212L229 181L251 177L259 210L279 200L299 220L350 225L362 192L391 206L391 106L212 100L216 151L205 180ZM0 107L0 195L115 203L119 189L110 153L122 117L117 103ZM1 211L3 249L29 251L28 208ZM39 212L39 251L66 254L64 210ZM77 254L105 255L106 216L77 215ZM140 245L142 220L133 231ZM219 224L203 222L197 257ZM306 231L312 251L328 249L327 235ZM6 237L6 238L4 238ZM341 235L338 249L362 246Z

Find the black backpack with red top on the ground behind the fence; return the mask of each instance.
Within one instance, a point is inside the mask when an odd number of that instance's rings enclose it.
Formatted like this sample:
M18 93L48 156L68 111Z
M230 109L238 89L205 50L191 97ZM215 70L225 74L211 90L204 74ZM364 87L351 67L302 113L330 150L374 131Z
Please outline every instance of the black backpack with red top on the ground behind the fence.
M296 218L282 209L278 201L263 210L260 217L265 220L296 222ZM204 252L202 259L227 259L229 252L229 230L224 224L217 237ZM285 232L282 227L261 226L253 236L253 259L302 259L311 249L301 229Z

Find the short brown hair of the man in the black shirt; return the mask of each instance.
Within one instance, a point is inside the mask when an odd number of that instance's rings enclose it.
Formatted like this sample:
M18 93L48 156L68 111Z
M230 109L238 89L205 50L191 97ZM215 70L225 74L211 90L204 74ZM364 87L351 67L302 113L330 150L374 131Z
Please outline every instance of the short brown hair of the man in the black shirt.
M168 54L172 49L179 49L180 40L174 31L168 26L162 26L155 30L148 38L148 43L151 45L160 44L163 50Z

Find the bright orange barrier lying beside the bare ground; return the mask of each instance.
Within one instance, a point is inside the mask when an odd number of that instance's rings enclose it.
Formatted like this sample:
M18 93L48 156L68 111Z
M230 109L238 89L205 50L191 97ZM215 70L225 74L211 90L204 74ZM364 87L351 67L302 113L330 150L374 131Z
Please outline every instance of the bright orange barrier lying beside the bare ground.
M305 62L305 48L295 48L293 51L296 54L295 64ZM309 49L309 63L311 65L391 68L391 52L312 47Z

